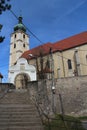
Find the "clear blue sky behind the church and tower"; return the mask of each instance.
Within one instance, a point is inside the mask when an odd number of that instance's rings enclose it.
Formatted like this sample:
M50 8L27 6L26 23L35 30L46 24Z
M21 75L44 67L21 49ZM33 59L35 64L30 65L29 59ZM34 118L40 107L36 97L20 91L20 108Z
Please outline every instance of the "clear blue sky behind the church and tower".
M87 0L11 0L12 11L22 15L23 23L41 41L30 35L30 48L46 42L56 42L72 35L87 31ZM0 44L0 72L7 82L10 34L17 24L10 11L0 15L3 29L0 35L5 40Z

